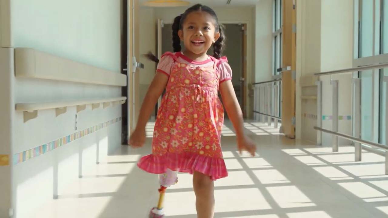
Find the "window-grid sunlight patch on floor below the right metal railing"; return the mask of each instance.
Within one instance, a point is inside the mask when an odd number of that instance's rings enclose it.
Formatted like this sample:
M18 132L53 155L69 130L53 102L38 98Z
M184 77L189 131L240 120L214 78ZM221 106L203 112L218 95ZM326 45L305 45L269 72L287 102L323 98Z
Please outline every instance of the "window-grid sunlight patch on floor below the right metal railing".
M383 174L385 172L384 156L363 150L362 161L355 162L355 149L352 146L340 147L339 152L333 152L331 147L284 149L282 151L308 166L323 165L312 167L312 169L333 182L338 181L337 184L355 199L368 203L388 201L388 175ZM388 214L387 207L377 208Z

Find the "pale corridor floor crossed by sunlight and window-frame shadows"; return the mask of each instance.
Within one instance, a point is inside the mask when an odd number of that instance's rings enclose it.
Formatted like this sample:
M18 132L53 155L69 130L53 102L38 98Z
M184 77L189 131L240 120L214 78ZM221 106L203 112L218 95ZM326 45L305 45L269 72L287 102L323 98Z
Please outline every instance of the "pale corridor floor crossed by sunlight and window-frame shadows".
M333 153L329 147L284 138L265 124L247 122L246 128L257 142L256 157L240 156L233 131L224 128L230 175L215 183L216 218L388 217L382 156L364 151L363 161L355 163L353 147ZM152 123L147 131L152 137ZM116 156L84 169L85 176L48 207L57 217L147 217L158 199L158 181L140 171L136 161L150 151L150 142L139 150L123 146ZM178 184L168 189L168 218L196 218L191 180L180 174Z

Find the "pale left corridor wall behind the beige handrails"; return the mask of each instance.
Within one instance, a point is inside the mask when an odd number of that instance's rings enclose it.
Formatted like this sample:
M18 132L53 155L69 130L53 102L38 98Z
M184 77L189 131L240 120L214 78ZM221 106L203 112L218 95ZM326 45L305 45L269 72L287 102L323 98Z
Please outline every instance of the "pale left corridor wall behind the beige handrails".
M11 46L31 47L119 73L120 7L120 0L12 0ZM12 165L14 217L40 217L47 212L47 205L57 203L54 196L60 198L69 190L69 184L77 183L81 173L78 169L85 172L94 166L97 156L104 161L120 147L121 119L117 118L121 117L121 107L92 111L87 106L78 113L76 130L75 107L68 107L56 118L54 109L38 111L38 118L23 123L23 113L14 111L14 103L119 97L121 87L14 78L12 65L1 70L8 75L0 75L0 81L10 77L12 154L115 121L53 151ZM16 156L11 161L17 162Z

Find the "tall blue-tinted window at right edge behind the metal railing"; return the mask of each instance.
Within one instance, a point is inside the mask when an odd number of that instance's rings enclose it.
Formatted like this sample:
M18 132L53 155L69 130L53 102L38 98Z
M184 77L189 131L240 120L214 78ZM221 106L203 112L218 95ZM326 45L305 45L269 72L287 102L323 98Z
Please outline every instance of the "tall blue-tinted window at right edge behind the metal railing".
M353 67L388 62L388 0L354 0ZM361 138L385 144L388 69L358 72L361 78Z

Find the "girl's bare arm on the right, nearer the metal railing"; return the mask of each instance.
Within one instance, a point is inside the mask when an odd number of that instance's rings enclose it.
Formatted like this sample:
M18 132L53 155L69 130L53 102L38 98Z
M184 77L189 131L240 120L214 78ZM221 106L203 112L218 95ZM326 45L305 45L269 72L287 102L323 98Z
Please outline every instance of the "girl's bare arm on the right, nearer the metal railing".
M244 118L239 105L239 102L234 92L232 81L228 80L220 84L220 92L226 112L230 121L236 130L237 147L239 152L242 150L248 151L252 156L255 156L256 145L244 133Z

